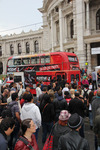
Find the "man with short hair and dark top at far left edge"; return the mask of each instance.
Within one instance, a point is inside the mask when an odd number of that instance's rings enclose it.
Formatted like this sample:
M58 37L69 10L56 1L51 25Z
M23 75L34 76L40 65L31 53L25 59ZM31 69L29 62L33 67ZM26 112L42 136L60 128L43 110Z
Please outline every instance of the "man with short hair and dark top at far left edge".
M5 89L3 91L3 93L0 95L0 100L1 100L1 103L0 103L0 116L1 116L2 111L7 106L7 98L8 98L8 96L9 96L8 89Z

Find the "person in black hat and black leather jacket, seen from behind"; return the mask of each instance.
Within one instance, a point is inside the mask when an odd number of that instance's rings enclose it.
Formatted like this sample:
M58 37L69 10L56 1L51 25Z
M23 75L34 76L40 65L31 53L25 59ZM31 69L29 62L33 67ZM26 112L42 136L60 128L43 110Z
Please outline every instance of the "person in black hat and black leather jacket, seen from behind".
M79 129L83 123L83 118L77 113L70 116L68 126L71 131L59 138L58 150L90 150L88 141L79 135Z

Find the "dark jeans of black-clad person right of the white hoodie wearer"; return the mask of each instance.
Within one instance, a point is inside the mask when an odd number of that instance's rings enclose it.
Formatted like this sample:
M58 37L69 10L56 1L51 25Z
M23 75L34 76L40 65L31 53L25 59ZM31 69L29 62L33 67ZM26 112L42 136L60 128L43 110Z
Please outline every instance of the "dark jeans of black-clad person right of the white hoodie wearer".
M42 122L42 143L46 141L47 134L50 134L50 131L53 127L53 122Z

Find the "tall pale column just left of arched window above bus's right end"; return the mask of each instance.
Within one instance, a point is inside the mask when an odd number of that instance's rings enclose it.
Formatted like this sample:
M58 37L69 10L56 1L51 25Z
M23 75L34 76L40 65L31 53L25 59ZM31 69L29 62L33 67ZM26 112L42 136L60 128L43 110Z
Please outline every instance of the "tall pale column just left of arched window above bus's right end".
M59 31L60 31L60 51L63 51L63 25L62 25L62 8L59 5Z

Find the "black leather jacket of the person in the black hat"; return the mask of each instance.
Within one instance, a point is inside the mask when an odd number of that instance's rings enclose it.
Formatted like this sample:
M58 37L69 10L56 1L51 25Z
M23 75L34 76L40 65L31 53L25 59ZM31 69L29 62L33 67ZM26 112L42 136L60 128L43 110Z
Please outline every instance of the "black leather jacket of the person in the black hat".
M77 150L81 136L75 130L60 137L58 142L58 150ZM80 150L89 150L89 144L86 139L82 138Z

